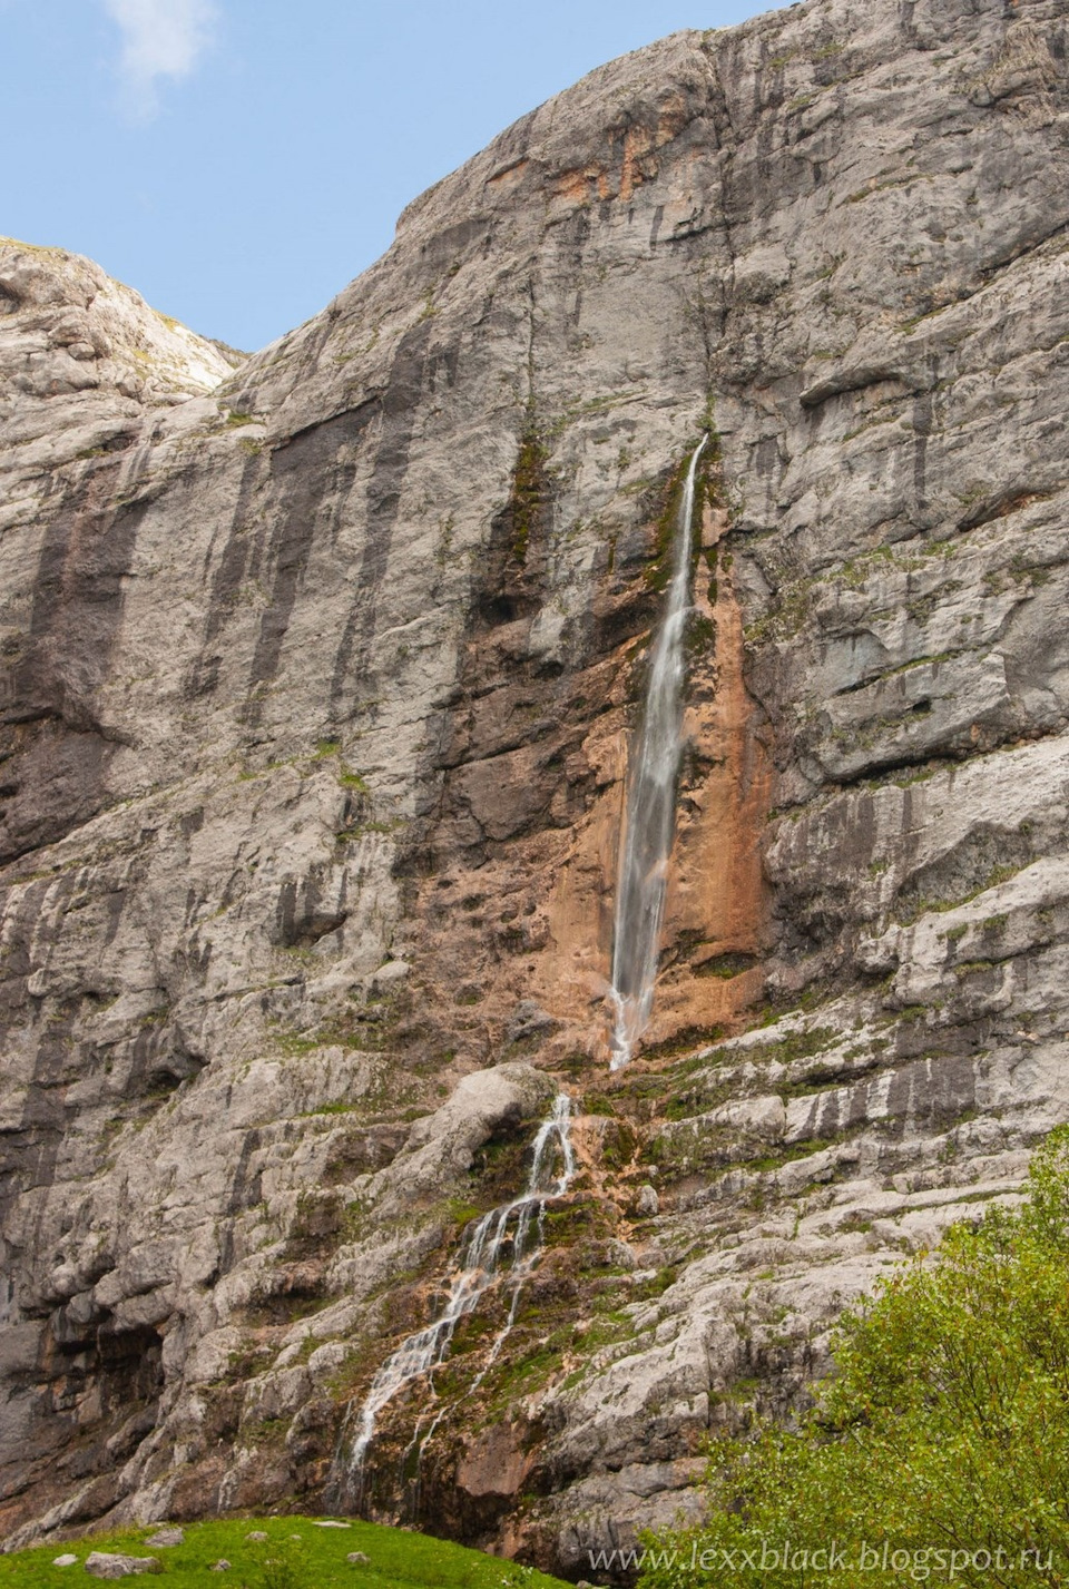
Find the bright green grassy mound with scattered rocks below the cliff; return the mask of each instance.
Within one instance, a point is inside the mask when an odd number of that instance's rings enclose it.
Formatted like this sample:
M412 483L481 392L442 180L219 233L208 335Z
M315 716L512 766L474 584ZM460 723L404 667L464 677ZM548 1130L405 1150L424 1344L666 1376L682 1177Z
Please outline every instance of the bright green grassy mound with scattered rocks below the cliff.
M164 1568L121 1583L159 1583L172 1589L192 1589L194 1584L200 1589L567 1589L559 1578L546 1578L518 1562L375 1522L318 1529L311 1517L222 1517L183 1524L183 1545L152 1548L146 1541L160 1527L164 1524L91 1533L0 1556L0 1586L49 1589L67 1584L70 1589L98 1583L86 1573L86 1557L92 1551L116 1551L156 1556ZM254 1530L267 1533L267 1540L246 1540ZM367 1564L346 1562L349 1551L364 1551ZM78 1565L52 1567L57 1556L67 1554L76 1556ZM229 1572L213 1573L211 1565L221 1559L230 1562Z

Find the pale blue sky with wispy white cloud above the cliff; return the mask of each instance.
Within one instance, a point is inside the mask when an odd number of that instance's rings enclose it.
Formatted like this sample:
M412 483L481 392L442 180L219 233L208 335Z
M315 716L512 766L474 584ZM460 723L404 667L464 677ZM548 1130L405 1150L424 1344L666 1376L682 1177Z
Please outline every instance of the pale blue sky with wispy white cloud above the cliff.
M0 234L97 259L240 348L585 72L759 0L0 0Z

